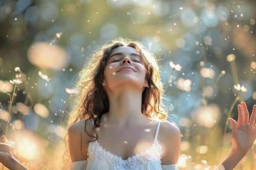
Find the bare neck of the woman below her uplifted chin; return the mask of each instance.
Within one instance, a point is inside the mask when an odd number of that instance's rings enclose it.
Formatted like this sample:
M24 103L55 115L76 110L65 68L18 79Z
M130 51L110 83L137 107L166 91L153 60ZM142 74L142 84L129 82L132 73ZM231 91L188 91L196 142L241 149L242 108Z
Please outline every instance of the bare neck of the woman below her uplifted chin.
M107 121L113 124L134 124L146 116L141 113L142 92L123 91L118 94L108 94L109 113Z

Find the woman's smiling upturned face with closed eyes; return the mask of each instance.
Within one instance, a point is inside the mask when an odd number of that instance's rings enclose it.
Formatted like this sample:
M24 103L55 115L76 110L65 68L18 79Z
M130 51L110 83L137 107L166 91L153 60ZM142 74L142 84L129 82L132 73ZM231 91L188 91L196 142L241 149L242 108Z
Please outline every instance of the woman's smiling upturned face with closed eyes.
M137 88L144 90L148 87L145 80L146 69L141 56L129 46L120 46L110 53L104 70L103 86L115 88Z

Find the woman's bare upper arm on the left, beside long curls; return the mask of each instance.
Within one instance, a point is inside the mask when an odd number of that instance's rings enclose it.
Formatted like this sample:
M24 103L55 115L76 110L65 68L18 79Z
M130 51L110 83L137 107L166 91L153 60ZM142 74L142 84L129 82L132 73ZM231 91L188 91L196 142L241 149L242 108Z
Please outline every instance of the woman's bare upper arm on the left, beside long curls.
M68 129L68 143L72 162L87 160L87 141L89 140L88 135L85 133L85 120L78 121L70 126Z

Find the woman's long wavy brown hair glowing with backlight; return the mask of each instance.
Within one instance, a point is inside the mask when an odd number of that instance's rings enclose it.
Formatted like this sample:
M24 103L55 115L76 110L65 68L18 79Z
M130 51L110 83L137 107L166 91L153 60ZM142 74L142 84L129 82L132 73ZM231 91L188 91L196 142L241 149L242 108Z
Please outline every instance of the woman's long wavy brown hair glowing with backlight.
M78 73L74 86L78 93L75 96L75 106L68 117L67 128L81 119L93 119L94 128L100 126L102 115L109 110L108 96L102 86L104 69L110 53L120 46L134 48L141 55L146 68L146 80L149 88L145 88L142 93L141 113L151 119L166 120L167 112L162 102L163 84L160 81L160 71L155 55L148 51L141 42L116 38L107 41L101 48L92 51L90 60L85 63L83 69ZM86 128L85 132L88 134ZM93 137L93 134L88 135ZM64 156L70 159L67 135L65 135L65 143Z

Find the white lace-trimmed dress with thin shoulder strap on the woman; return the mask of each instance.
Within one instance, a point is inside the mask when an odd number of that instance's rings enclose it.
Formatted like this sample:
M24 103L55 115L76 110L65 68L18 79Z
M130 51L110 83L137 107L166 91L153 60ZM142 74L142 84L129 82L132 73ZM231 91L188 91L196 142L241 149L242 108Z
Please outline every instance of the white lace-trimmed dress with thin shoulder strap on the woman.
M89 143L88 158L72 162L70 170L178 170L177 164L161 165L162 146L157 140L160 121L157 124L153 145L140 154L123 160L103 149L98 141Z

